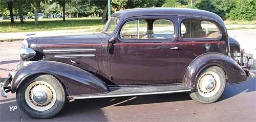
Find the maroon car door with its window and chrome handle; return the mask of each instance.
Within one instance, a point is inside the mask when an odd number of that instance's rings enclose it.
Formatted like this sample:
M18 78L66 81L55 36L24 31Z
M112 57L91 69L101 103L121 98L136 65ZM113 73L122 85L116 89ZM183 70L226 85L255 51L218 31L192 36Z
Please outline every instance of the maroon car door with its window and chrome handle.
M116 85L176 83L177 16L143 16L120 26L111 55Z

